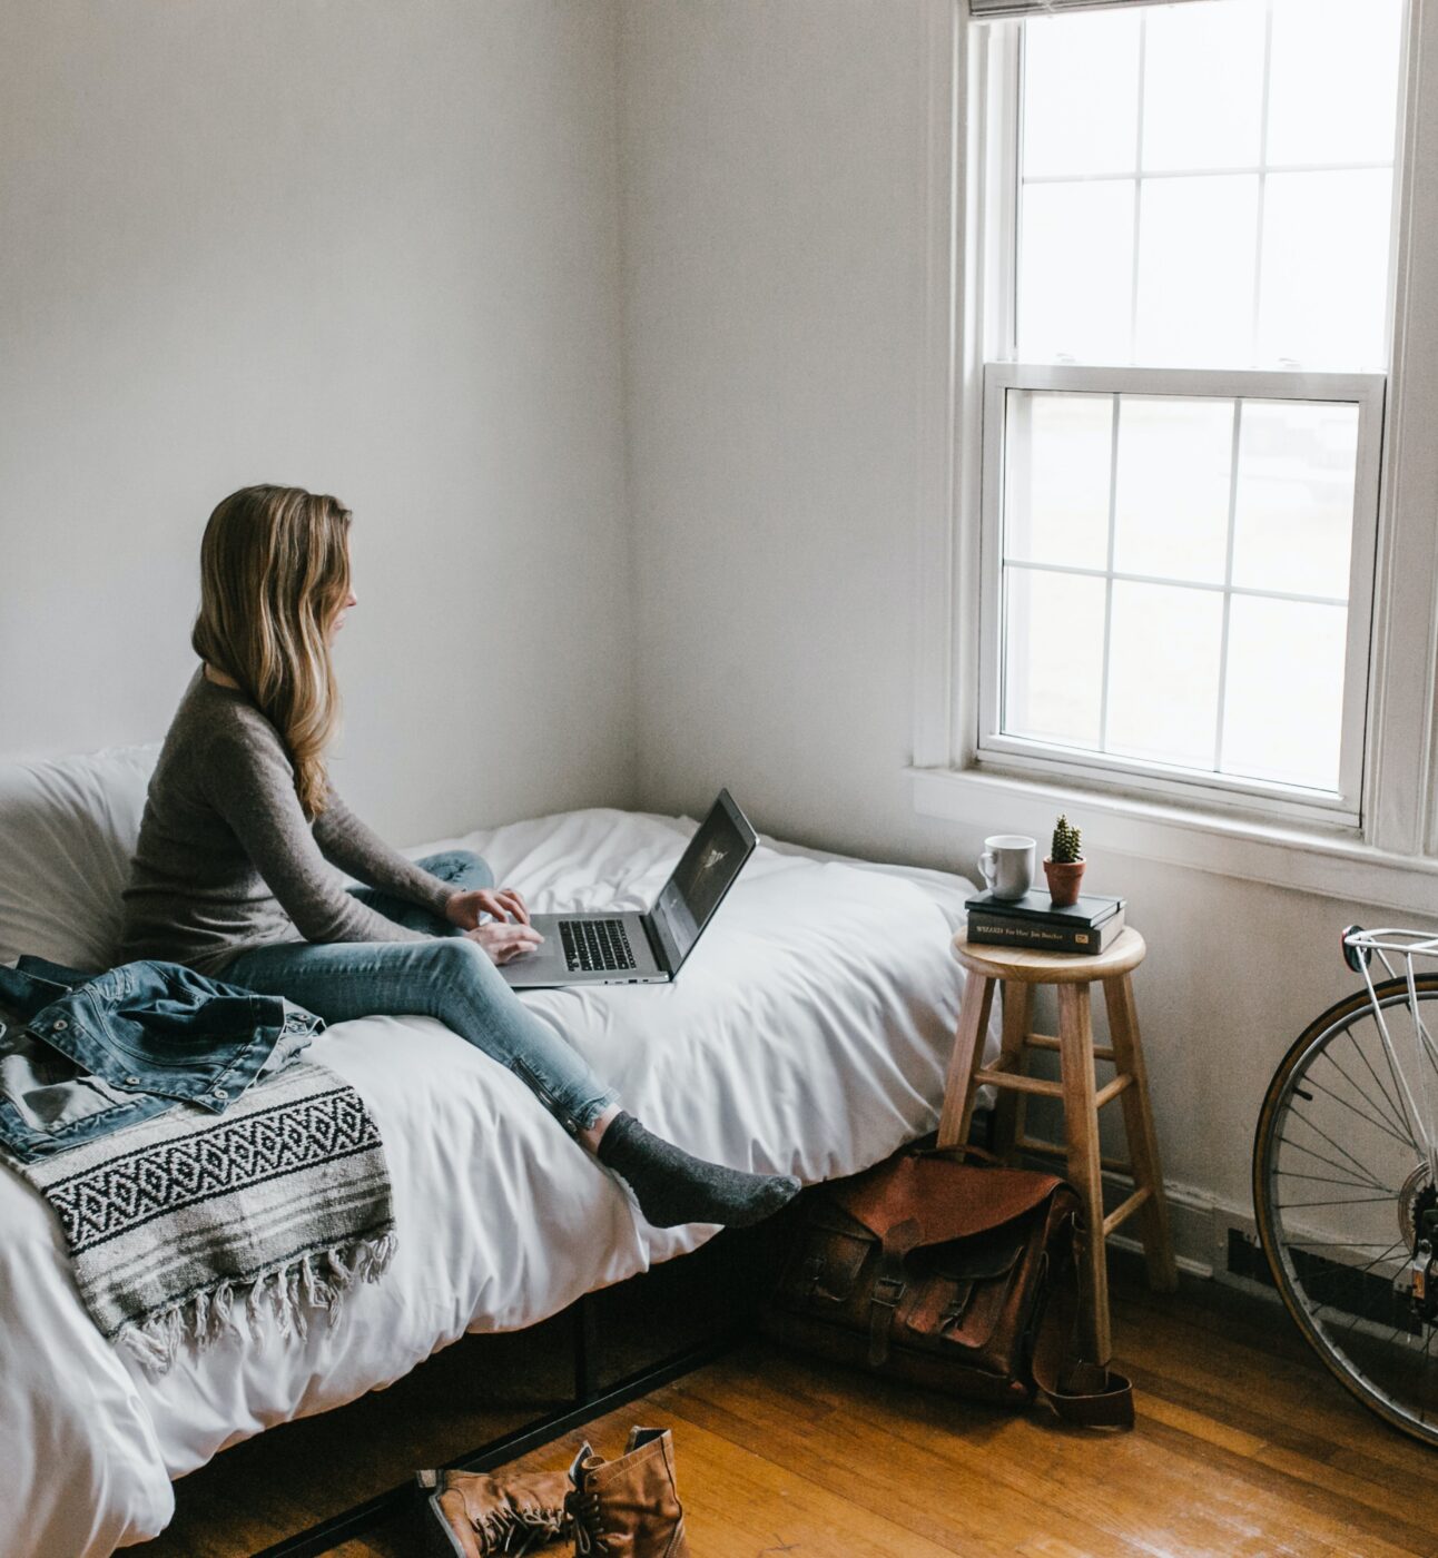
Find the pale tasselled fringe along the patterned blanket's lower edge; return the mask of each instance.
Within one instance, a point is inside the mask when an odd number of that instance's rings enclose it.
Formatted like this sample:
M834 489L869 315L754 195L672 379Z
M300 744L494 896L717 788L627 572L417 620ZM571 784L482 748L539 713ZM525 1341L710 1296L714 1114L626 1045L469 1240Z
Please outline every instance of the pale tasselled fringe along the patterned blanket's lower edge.
M340 1318L346 1293L357 1282L377 1282L394 1259L394 1231L312 1250L245 1282L224 1279L192 1293L184 1302L131 1321L115 1334L123 1348L153 1374L164 1374L184 1346L203 1351L226 1335L256 1341L266 1324L280 1337L310 1334L310 1317L324 1310L327 1326ZM241 1329L243 1321L243 1329Z

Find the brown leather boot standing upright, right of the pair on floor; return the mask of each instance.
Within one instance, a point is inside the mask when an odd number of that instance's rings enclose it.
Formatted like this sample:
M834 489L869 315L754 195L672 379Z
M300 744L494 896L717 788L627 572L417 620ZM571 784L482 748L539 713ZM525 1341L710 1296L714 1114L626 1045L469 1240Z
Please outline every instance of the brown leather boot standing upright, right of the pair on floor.
M581 1446L569 1480L575 1558L689 1558L668 1429L629 1429L617 1461Z

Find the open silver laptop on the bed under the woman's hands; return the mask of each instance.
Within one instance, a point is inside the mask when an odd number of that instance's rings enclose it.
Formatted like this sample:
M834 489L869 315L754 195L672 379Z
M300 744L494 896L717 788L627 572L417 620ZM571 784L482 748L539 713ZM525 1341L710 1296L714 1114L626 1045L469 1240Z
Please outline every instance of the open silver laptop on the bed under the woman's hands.
M533 915L544 946L502 963L500 974L516 989L668 983L757 841L729 791L720 790L653 908Z

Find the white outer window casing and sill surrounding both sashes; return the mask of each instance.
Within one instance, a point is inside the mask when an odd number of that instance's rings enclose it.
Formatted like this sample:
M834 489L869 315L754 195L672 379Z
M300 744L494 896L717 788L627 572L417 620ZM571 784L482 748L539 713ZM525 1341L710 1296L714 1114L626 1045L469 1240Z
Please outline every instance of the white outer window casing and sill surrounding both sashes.
M1091 848L1438 919L1438 0L1408 0L1394 168L1393 347L1383 416L1362 829L977 767L983 361L1000 337L1005 226L986 181L1005 42L966 0L924 12L913 485L915 812L966 840L1041 834L1078 809ZM1013 132L1013 125L1006 132ZM994 207L1000 210L996 212ZM1010 229L1011 231L1011 229ZM977 846L975 846L977 848ZM1352 918L1349 915L1349 918Z

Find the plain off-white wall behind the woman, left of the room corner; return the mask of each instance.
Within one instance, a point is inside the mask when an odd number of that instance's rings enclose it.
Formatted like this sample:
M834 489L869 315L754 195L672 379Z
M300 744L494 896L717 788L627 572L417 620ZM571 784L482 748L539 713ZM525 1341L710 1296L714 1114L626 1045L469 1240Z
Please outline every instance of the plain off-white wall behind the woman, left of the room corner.
M282 481L355 511L375 826L633 798L615 45L608 0L6 0L0 753L162 735L204 519Z

